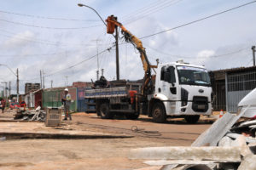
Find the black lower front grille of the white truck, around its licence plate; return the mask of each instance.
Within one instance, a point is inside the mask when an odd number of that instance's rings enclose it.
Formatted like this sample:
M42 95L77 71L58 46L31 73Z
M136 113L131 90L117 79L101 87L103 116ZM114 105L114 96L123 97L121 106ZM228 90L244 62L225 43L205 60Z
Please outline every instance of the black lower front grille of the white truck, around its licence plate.
M208 111L208 99L207 97L194 96L192 102L192 110L196 112Z

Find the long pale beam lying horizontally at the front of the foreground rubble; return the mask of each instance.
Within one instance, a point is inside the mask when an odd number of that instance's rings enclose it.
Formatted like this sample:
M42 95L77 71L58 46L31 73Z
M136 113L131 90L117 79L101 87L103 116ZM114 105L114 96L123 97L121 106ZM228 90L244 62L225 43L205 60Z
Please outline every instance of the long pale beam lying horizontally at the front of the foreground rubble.
M240 147L152 147L133 149L131 159L241 161Z

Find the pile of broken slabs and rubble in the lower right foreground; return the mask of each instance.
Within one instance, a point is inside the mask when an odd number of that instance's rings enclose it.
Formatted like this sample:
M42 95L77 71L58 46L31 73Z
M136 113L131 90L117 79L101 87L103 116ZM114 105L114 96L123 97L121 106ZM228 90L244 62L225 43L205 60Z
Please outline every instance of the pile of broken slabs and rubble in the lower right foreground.
M131 150L131 159L149 160L159 170L255 170L256 120L226 113L187 147Z

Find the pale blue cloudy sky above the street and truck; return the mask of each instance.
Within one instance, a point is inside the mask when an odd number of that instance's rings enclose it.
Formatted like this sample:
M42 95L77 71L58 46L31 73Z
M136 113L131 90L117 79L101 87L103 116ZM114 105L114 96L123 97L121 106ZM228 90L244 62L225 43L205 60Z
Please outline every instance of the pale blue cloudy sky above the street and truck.
M97 65L108 80L116 78L114 38L90 8L102 16L115 15L136 37L217 14L252 0L1 0L0 81L11 82L16 91L19 69L20 94L26 82L40 82L45 88L96 80ZM143 38L151 64L183 59L215 71L253 65L256 45L256 3L201 20L189 26ZM120 79L143 78L137 49L119 34ZM109 48L109 50L107 50ZM98 55L97 55L98 53ZM97 62L98 61L98 62ZM3 66L3 65L8 65ZM10 71L10 70L12 71ZM0 90L3 89L0 84Z

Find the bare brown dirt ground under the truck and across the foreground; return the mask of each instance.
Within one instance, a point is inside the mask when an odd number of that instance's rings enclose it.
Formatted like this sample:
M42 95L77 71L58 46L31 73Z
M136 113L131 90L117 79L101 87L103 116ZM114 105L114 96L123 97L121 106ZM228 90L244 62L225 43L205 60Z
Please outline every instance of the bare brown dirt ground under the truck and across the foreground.
M11 117L12 113L0 114L0 121ZM158 124L146 116L136 121L126 120L121 116L113 120L102 120L95 114L77 113L73 114L72 122L62 123L61 130L133 137L3 140L0 141L0 169L130 170L148 167L143 160L128 159L129 151L151 146L190 145L211 124L212 119L205 117L197 124L187 124L183 119L170 119ZM132 131L131 127L138 130Z

